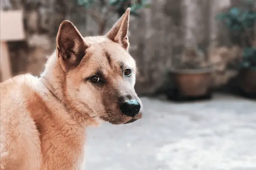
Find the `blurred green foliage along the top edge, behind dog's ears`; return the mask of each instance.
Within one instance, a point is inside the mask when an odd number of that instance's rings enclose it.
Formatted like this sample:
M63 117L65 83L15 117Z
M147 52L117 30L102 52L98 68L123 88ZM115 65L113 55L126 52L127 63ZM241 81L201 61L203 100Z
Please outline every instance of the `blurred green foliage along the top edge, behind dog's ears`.
M113 12L121 17L126 9L130 7L130 14L139 16L138 10L150 7L148 0L77 0L77 2L78 5L83 6L92 19L96 21L99 26L98 33L100 35L104 33L108 18Z

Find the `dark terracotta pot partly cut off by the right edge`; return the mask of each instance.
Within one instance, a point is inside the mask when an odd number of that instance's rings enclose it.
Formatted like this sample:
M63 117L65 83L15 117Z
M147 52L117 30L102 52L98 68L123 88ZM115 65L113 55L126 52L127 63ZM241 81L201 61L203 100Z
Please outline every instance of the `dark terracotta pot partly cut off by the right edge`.
M256 69L242 68L239 72L240 88L248 94L256 94Z

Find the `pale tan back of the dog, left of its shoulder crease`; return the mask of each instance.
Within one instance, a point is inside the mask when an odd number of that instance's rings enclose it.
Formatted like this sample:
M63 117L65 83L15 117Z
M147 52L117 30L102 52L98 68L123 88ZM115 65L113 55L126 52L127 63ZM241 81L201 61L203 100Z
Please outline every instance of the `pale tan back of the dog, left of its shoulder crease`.
M40 139L26 103L39 83L30 75L16 76L0 84L0 169L38 170Z

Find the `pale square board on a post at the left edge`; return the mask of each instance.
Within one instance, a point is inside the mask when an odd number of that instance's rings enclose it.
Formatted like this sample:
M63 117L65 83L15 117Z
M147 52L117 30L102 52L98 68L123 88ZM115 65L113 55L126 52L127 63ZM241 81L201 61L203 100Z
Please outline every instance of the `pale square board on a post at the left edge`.
M0 69L2 81L12 77L7 42L24 39L22 10L0 11Z

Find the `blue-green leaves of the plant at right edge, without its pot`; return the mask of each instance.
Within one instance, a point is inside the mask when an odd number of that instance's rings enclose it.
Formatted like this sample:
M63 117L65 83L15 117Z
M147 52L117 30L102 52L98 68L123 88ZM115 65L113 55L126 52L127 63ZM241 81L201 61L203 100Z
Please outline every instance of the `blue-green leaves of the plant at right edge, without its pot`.
M247 0L246 3L253 4L254 1ZM250 6L248 10L233 7L228 12L220 13L216 17L228 27L231 38L233 40L236 38L238 44L244 48L240 67L255 68L256 47L253 47L253 41L255 41L254 26L256 23L256 10L250 8Z

